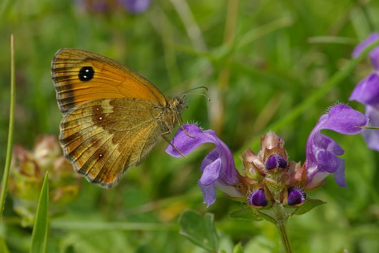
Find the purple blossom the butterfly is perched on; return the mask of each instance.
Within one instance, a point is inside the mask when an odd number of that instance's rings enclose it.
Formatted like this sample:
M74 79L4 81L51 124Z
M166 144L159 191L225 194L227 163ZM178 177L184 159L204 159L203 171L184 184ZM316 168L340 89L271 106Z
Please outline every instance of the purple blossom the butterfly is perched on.
M245 197L234 186L239 183L237 171L234 166L233 155L212 130L202 131L196 124L183 125L188 136L181 128L172 139L172 144L183 154L187 155L203 143L213 143L216 147L204 158L200 171L203 173L199 180L203 192L204 203L208 206L216 200L215 187L231 198ZM166 152L174 157L181 157L179 152L171 145Z

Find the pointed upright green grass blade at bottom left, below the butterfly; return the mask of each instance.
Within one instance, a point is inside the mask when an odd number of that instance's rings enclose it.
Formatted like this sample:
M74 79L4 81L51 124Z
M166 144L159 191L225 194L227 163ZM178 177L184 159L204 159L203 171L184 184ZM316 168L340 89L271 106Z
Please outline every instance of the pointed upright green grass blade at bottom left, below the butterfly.
M41 194L39 195L37 214L32 233L30 253L46 251L48 238L48 209L49 209L49 173L46 172Z

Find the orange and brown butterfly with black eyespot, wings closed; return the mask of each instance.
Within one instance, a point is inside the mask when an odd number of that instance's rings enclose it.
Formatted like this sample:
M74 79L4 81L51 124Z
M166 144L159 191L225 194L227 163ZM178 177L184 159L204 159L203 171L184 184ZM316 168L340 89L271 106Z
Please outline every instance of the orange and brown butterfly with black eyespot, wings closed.
M88 51L60 49L51 74L63 114L64 155L76 172L103 188L115 186L161 138L170 143L165 135L177 121L181 125L180 112L187 107L188 91L166 98L133 70Z

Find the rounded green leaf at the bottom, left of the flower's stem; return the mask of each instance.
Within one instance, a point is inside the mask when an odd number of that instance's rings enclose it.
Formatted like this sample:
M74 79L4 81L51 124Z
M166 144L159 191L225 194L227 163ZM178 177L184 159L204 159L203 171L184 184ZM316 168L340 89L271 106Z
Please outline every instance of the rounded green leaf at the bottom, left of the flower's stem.
M213 214L202 216L195 210L185 210L179 217L179 225L179 233L188 240L206 250L217 251L218 236L213 225Z

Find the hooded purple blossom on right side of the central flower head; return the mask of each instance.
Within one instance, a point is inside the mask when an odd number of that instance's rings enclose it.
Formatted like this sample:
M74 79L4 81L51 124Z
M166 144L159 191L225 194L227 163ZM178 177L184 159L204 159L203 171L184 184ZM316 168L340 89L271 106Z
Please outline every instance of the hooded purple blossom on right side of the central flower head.
M333 130L340 134L355 135L362 131L357 126L367 125L368 118L350 106L338 104L323 114L310 133L306 144L306 176L310 189L319 186L330 173L339 186L346 187L345 160L337 157L344 150L333 139L320 133L321 130Z

